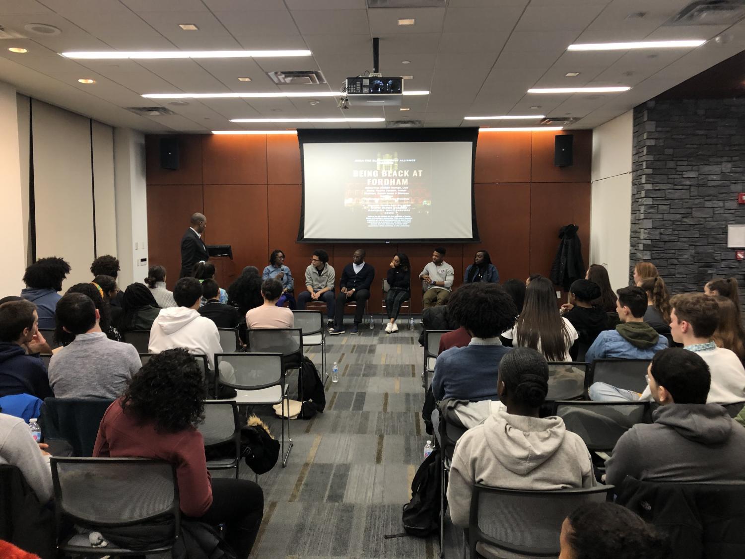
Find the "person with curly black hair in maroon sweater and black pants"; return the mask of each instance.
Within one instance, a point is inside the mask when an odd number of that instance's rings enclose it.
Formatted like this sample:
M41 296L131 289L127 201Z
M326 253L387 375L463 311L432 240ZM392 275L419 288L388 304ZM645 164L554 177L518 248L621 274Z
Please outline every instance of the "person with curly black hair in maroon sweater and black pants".
M194 278L180 279L174 288L177 302L179 285L191 290L194 284L198 286ZM198 302L199 298L194 297L192 307ZM264 495L253 481L212 479L209 475L204 440L197 431L205 396L202 373L186 350L168 350L154 356L133 376L124 396L104 414L93 455L153 458L174 464L185 519L213 526L223 524L227 543L238 558L245 559L261 525Z

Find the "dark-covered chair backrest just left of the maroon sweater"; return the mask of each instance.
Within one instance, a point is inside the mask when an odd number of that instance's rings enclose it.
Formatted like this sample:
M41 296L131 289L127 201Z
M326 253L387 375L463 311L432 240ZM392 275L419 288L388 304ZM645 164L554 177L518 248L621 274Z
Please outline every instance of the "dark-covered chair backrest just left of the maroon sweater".
M98 425L112 402L107 398L46 398L40 419L42 435L66 440L74 456L92 456Z

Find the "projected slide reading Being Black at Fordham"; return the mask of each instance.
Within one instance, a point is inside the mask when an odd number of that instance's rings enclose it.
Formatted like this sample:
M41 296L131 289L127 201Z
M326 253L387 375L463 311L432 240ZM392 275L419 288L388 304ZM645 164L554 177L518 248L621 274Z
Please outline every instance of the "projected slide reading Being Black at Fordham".
M302 149L305 240L472 239L472 142Z

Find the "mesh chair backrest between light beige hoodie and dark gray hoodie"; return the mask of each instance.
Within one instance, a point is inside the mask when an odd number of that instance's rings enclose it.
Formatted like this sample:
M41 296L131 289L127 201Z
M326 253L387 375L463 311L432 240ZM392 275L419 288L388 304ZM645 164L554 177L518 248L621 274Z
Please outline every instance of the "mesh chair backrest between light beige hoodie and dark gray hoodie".
M637 423L646 423L649 402L577 402L559 400L554 414L566 428L585 441L592 451L608 452L625 432Z

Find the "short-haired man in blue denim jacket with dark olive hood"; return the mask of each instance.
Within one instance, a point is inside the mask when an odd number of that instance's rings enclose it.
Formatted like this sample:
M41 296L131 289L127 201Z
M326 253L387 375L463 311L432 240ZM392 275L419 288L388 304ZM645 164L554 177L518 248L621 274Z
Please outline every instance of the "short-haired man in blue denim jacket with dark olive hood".
M618 318L621 323L613 330L606 330L597 335L595 343L587 350L585 359L592 363L595 359L652 359L659 350L668 347L668 339L659 335L652 326L644 322L647 311L647 294L640 287L624 287L618 290ZM590 388L592 399L601 397L603 382Z

